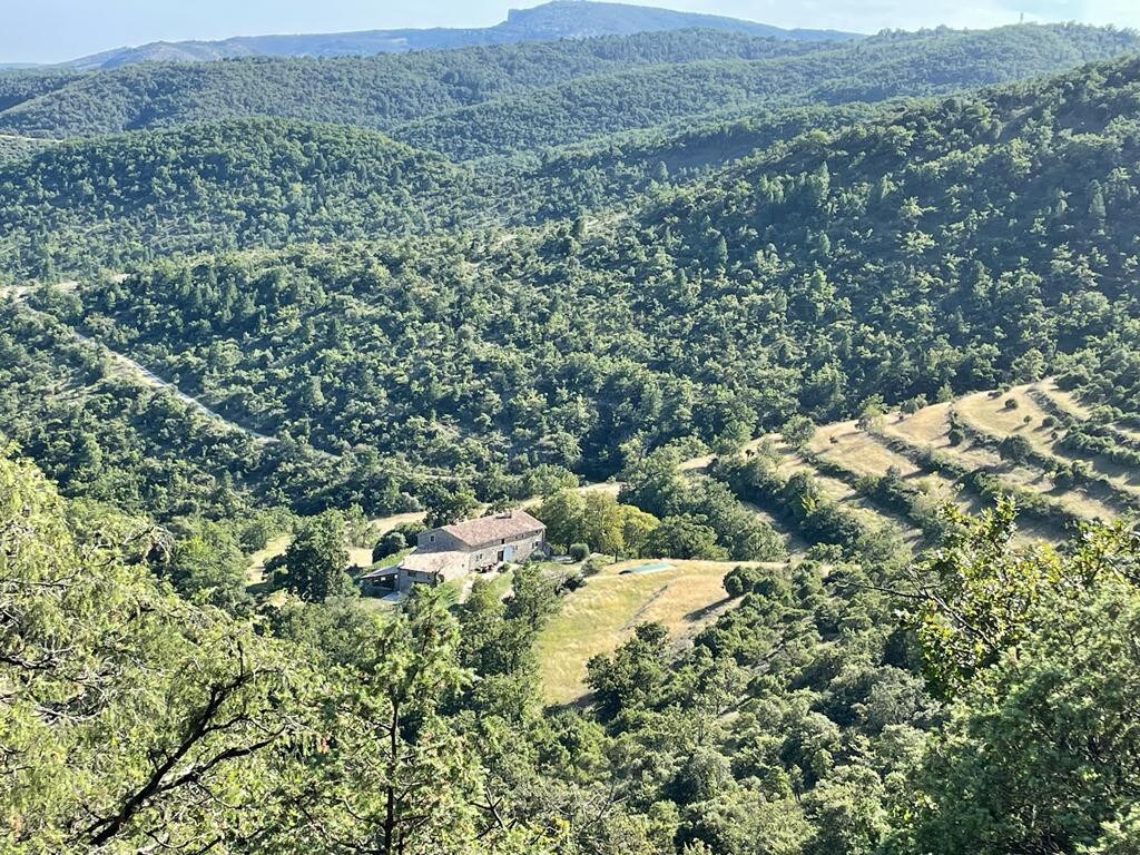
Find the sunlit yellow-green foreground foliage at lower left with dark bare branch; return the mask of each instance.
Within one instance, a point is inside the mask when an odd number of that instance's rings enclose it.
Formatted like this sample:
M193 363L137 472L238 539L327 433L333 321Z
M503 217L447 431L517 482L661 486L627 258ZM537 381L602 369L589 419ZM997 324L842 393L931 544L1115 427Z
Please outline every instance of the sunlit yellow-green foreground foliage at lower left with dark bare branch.
M203 836L282 822L317 738L306 699L320 677L252 625L153 581L155 535L65 506L0 459L8 852L125 852L156 836L192 852Z

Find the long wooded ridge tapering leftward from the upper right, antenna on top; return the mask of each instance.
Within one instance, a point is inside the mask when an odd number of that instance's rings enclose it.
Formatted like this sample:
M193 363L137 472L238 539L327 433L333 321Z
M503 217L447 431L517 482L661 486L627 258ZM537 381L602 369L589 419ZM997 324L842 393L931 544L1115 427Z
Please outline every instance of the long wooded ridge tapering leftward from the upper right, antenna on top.
M537 150L716 111L878 101L1069 68L1140 48L1135 33L1010 26L876 36L752 62L705 60L581 76L391 129L453 160Z

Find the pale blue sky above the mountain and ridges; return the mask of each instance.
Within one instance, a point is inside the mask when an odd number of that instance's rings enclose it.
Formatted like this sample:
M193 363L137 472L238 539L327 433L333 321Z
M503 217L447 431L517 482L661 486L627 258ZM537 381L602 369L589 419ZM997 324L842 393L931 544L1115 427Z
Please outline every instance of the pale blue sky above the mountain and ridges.
M638 0L785 27L987 27L1081 21L1140 27L1140 0ZM538 0L0 0L0 63L57 63L150 41L489 26Z

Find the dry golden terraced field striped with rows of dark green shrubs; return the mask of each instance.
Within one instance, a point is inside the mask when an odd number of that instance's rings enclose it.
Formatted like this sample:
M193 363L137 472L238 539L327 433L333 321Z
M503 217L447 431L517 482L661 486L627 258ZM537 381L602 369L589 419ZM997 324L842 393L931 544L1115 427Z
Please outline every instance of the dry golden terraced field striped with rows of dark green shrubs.
M923 511L953 503L977 513L1000 494L1011 495L1021 508L1024 540L1058 540L1082 520L1140 512L1140 467L1122 463L1121 455L1075 448L1069 434L1086 430L1140 447L1140 432L1096 423L1093 408L1052 380L911 414L888 413L865 426L823 425L801 450L777 435L768 440L782 475L808 472L840 507L872 524L895 527L907 543L920 545ZM914 498L912 508L903 511L874 494L874 482L888 474ZM757 510L785 518L777 507ZM793 552L807 543L792 544Z

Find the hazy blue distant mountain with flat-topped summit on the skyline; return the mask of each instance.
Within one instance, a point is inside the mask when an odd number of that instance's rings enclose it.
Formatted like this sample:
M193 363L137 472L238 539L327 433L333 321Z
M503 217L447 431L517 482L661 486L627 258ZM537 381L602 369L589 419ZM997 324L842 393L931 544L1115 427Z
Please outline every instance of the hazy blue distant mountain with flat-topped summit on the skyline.
M209 62L250 56L370 56L408 50L508 44L520 41L632 35L690 27L796 41L856 38L854 33L834 30L783 30L751 21L658 9L650 6L592 0L553 0L531 9L512 9L506 21L490 27L368 30L350 33L236 36L221 41L160 41L93 54L65 65L81 70L98 70L145 62Z

